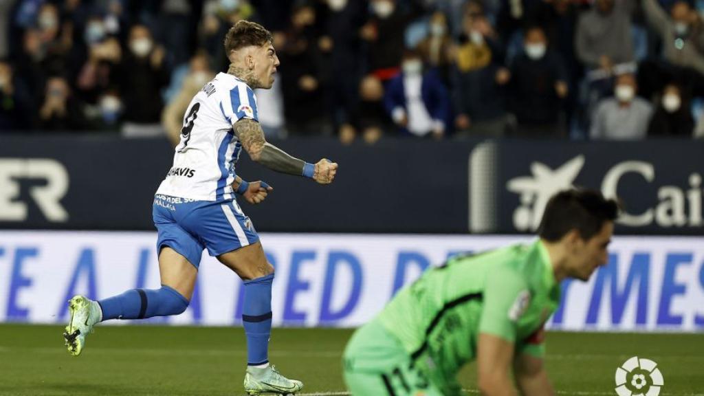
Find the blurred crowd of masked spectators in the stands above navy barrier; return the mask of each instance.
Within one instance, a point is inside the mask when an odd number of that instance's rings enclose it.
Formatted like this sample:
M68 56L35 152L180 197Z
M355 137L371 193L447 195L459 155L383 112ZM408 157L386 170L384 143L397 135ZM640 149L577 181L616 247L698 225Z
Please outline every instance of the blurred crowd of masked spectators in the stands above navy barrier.
M166 133L238 20L268 137L704 135L704 0L2 0L0 132Z

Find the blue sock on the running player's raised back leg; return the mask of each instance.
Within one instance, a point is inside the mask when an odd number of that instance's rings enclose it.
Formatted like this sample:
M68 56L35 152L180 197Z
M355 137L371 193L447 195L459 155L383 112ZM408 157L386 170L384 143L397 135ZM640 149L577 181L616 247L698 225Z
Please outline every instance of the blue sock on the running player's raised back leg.
M178 315L188 308L188 300L171 287L132 289L121 295L101 299L103 321L108 319L144 319L152 316Z

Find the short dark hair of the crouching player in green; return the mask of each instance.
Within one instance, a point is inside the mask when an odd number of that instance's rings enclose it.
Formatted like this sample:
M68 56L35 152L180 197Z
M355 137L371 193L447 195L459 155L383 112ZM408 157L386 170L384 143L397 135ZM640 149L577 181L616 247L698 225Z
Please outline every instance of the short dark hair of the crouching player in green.
M555 194L545 208L538 235L550 242L577 230L583 240L601 231L606 221L618 217L619 205L596 190L565 190Z

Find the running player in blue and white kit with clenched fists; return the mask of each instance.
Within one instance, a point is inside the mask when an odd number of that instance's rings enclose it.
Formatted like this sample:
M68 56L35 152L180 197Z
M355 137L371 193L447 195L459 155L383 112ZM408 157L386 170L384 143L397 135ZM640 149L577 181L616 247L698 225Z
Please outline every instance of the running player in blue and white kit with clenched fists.
M70 323L64 334L68 351L78 356L93 326L108 319L142 319L181 314L193 294L203 249L244 280L242 321L247 338L244 388L293 394L303 383L282 376L269 364L271 288L274 268L259 237L233 194L261 202L271 187L245 182L234 173L244 149L253 161L272 169L329 184L337 163L306 163L265 141L258 123L253 89L268 89L279 66L272 35L264 27L239 21L227 32L227 73L218 73L191 100L184 116L173 167L153 202L161 288L128 290L92 301L75 296L69 302Z

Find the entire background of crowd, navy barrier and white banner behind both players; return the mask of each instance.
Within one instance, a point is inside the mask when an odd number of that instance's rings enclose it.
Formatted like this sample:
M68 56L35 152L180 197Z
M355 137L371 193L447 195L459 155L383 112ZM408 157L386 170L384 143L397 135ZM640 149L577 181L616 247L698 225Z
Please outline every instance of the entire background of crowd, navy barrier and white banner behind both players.
M243 205L277 266L275 323L358 326L447 256L529 239L577 185L624 215L610 264L563 285L550 326L699 331L703 15L702 0L0 0L0 320L61 323L75 293L158 285L153 192L247 19L281 60L256 92L268 139L340 164L322 187L239 161L275 187ZM199 282L160 323L238 323L234 274L207 259Z

